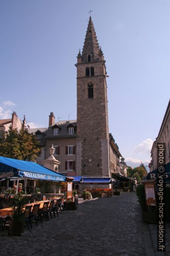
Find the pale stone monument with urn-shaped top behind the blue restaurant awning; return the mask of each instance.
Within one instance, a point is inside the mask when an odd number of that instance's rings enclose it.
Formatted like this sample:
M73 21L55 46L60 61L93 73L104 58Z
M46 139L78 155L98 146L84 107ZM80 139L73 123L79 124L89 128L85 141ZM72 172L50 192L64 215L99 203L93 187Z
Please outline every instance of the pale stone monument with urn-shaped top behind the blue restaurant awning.
M44 167L54 171L59 172L59 164L60 162L54 157L55 148L53 148L53 144L51 148L49 148L50 156L43 161Z

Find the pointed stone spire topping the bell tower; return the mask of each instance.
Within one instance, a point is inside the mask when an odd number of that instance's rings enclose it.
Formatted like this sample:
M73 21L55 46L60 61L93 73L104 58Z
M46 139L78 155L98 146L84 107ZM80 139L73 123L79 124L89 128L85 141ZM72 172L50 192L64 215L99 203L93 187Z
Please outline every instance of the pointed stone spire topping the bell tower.
M88 54L91 56L91 61L98 61L99 59L99 45L95 33L95 28L90 16L88 21L88 28L85 36L85 42L82 51L82 62L88 62Z

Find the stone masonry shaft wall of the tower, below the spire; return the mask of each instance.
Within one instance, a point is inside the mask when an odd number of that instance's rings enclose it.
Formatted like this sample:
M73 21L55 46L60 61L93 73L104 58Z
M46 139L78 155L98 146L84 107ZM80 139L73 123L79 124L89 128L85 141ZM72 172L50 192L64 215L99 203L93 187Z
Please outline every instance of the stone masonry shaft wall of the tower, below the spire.
M82 175L87 176L109 176L108 147L105 148L104 144L101 144L101 140L108 140L107 86L104 63L105 61L83 63L78 64L77 67L76 139L77 145L82 141L81 169ZM93 77L85 77L86 67L94 67L95 75ZM93 83L94 98L88 98L88 83Z

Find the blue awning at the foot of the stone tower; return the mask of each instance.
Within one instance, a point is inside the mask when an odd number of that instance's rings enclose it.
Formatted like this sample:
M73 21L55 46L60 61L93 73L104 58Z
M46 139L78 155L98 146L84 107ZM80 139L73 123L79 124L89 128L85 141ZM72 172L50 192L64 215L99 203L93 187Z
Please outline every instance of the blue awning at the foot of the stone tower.
M73 176L75 178L73 183L82 185L107 185L115 182L115 179L111 177L83 177L83 176Z

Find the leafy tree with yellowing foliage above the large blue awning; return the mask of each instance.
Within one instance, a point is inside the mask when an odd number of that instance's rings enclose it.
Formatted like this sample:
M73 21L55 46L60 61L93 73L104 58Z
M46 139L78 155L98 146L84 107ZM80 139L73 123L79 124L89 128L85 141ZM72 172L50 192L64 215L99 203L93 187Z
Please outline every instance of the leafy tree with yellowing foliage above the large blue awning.
M36 136L26 130L12 130L0 133L0 156L19 160L35 161L41 148Z

